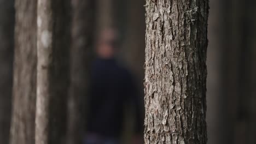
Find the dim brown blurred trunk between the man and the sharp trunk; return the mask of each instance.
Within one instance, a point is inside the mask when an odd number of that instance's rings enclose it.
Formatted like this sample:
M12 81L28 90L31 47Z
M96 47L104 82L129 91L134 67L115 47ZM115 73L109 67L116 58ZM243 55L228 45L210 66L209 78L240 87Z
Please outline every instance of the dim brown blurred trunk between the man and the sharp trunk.
M117 0L118 1L118 0ZM139 77L138 82L143 87L145 61L145 9L144 0L131 0L127 2L127 22L124 40L124 56L133 72Z

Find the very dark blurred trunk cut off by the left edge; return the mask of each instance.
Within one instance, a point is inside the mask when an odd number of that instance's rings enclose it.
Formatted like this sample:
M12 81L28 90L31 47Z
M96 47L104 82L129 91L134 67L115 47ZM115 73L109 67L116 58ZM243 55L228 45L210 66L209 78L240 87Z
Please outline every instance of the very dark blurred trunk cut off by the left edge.
M0 143L9 143L13 84L14 1L0 1Z

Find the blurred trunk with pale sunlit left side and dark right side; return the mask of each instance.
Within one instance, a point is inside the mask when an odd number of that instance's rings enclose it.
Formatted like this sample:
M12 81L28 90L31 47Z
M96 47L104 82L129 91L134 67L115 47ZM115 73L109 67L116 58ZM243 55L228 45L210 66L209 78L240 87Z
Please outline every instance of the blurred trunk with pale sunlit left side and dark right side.
M36 144L64 143L69 77L69 3L38 1Z

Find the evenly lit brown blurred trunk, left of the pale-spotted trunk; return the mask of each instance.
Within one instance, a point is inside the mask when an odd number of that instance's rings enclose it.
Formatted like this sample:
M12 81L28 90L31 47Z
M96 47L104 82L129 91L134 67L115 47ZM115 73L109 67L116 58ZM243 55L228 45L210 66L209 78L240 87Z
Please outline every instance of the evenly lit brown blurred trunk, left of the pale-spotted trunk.
M34 143L37 1L15 1L13 110L10 143Z

